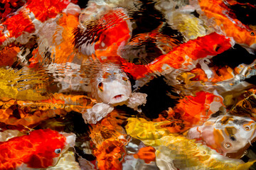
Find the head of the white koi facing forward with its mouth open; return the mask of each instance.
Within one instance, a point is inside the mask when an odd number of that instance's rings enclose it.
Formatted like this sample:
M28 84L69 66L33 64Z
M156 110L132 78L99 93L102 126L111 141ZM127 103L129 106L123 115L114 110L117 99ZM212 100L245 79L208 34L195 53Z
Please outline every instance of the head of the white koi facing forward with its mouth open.
M119 105L131 94L131 82L121 69L105 69L92 81L92 97L99 102Z

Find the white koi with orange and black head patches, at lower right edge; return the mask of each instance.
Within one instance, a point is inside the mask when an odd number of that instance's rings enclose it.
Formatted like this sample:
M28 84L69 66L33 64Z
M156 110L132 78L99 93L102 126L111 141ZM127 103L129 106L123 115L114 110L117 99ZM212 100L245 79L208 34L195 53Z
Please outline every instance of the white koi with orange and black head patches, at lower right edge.
M255 137L256 122L250 118L220 115L188 130L190 139L200 139L221 154L238 152ZM200 141L199 140L199 141Z

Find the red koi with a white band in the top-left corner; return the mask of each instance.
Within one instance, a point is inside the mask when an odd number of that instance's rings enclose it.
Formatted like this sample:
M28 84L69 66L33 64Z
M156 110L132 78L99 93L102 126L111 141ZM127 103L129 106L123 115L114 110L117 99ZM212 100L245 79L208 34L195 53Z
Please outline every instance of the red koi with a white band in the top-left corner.
M18 38L25 32L33 33L36 30L35 24L55 18L68 4L69 0L28 0L14 16L6 18L0 24L0 45L11 38Z

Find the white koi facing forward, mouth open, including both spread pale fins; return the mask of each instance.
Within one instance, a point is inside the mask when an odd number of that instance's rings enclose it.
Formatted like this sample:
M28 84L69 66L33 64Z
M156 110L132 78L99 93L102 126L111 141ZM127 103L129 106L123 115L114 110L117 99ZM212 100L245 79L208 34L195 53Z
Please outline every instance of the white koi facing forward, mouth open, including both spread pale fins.
M146 94L133 92L127 75L116 65L102 65L92 78L92 98L97 100L95 106L82 113L85 123L96 123L113 111L114 106L127 105L135 111L146 103Z

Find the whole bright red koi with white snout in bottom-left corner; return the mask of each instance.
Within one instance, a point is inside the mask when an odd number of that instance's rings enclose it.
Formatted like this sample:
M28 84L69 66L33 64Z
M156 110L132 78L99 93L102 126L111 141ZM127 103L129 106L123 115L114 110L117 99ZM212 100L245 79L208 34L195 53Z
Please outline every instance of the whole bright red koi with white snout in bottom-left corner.
M61 153L74 145L74 134L35 130L30 135L0 142L0 169L47 168L55 165Z

